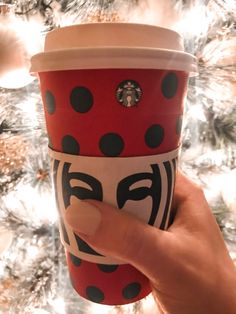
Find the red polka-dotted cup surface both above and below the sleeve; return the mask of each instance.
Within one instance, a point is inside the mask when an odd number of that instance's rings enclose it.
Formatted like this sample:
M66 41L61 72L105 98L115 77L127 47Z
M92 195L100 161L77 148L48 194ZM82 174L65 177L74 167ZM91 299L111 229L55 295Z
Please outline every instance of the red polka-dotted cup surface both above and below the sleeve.
M43 81L49 145L57 151L81 156L130 157L161 154L179 145L185 72L75 70L66 73L66 81L65 71L39 75ZM130 91L118 95L117 87L127 80L138 82L141 92L135 86L132 95ZM121 100L132 104L132 109L121 106ZM81 239L76 241L83 254L95 259L99 255ZM67 262L75 290L93 302L127 304L151 291L147 278L131 265L95 264L81 261L73 254L67 255Z

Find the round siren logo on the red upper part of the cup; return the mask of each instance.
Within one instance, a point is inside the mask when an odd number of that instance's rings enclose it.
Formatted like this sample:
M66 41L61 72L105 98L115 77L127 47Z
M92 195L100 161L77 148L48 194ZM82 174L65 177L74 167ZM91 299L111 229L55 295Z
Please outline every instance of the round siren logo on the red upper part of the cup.
M116 98L124 107L137 106L141 96L142 90L139 84L134 80L121 82L116 90Z

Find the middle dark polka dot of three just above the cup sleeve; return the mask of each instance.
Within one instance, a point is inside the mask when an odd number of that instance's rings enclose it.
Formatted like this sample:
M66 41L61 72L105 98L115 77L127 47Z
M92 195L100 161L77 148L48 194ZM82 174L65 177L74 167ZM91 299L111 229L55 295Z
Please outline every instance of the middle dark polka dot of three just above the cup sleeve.
M101 137L99 147L103 155L116 157L122 153L124 141L122 137L116 133L107 133Z

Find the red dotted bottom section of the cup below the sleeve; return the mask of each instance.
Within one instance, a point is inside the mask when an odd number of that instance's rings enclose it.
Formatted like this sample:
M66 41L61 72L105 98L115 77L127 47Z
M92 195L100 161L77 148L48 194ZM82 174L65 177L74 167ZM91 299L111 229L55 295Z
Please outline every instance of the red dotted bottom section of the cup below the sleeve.
M151 292L149 280L131 265L106 265L118 267L112 272L104 272L98 268L98 264L86 260L77 266L71 259L71 253L66 251L66 255L74 289L82 297L93 302L110 305L127 304Z

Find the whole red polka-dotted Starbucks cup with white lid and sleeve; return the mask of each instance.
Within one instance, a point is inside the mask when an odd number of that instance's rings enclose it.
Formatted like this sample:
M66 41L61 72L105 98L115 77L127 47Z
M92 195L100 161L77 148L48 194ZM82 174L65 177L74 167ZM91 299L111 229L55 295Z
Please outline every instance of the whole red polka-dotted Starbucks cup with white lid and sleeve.
M129 23L53 30L32 58L68 270L74 289L90 301L127 304L151 287L134 267L85 243L65 213L97 199L168 228L187 82L196 71L179 34Z

